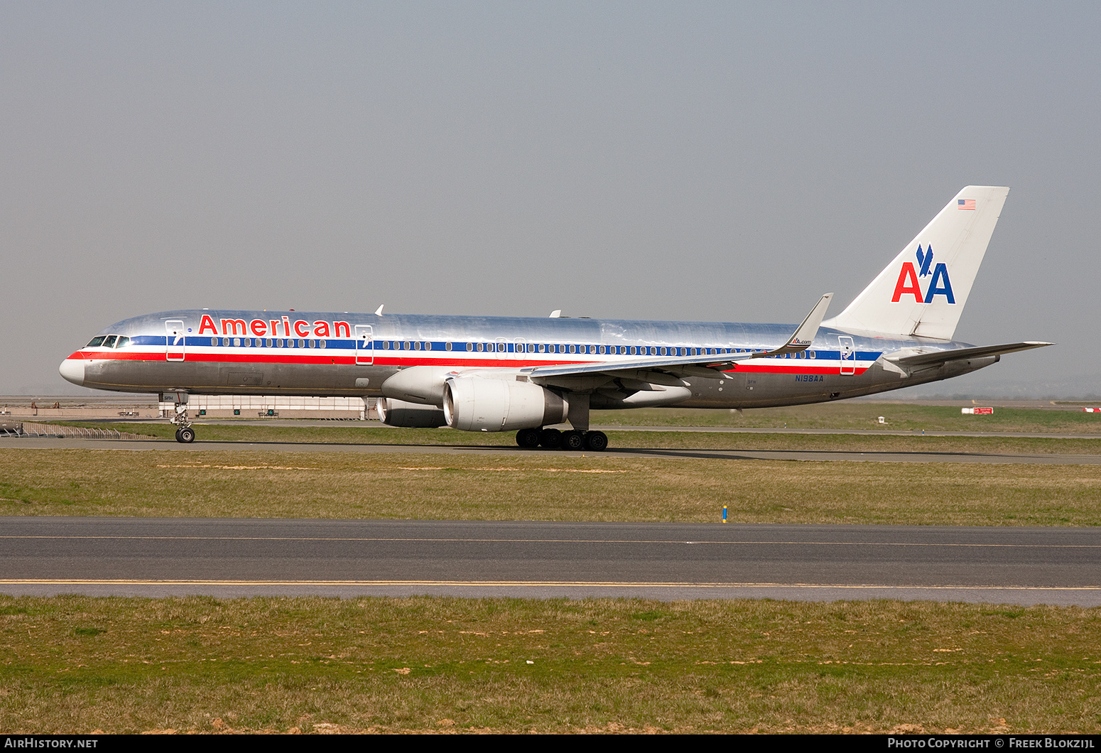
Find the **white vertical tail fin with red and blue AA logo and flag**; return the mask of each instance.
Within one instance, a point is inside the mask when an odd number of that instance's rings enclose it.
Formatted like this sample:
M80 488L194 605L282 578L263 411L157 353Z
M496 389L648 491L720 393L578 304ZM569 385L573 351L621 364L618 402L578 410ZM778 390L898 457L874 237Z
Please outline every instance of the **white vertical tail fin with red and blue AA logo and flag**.
M961 190L848 308L822 324L952 339L1009 193L996 186Z

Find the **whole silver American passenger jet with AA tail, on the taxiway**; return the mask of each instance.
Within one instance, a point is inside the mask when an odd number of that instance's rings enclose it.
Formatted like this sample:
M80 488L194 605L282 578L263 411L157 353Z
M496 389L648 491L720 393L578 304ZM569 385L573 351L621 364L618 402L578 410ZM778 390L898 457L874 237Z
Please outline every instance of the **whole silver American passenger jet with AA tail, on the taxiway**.
M489 316L174 310L100 330L74 384L156 392L176 439L188 395L377 397L391 426L516 432L525 448L603 450L593 410L818 403L966 374L1050 342L952 339L1009 188L963 188L849 306L798 326ZM555 425L568 423L563 432Z

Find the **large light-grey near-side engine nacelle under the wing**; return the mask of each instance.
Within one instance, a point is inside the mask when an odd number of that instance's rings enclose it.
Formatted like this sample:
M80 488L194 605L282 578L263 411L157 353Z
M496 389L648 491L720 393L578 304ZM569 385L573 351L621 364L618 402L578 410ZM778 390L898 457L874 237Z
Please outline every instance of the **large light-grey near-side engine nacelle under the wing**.
M447 425L464 432L511 432L566 421L562 395L531 382L458 376L444 386Z

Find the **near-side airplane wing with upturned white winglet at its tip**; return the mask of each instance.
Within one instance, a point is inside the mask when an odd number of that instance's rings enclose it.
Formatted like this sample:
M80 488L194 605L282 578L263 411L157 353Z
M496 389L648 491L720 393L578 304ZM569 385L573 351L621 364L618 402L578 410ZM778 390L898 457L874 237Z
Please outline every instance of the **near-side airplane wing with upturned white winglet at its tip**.
M679 386L685 376L704 376L707 379L724 379L724 370L733 368L739 361L754 358L771 358L783 353L797 353L810 347L818 332L818 326L826 316L832 293L824 295L810 309L803 324L795 328L792 337L784 345L773 350L757 350L745 353L721 353L705 356L669 356L661 358L640 358L630 361L602 361L600 363L569 363L564 365L536 367L528 373L534 382L559 380L566 378L611 378L637 380L640 384L665 384ZM639 389L645 389L640 386Z

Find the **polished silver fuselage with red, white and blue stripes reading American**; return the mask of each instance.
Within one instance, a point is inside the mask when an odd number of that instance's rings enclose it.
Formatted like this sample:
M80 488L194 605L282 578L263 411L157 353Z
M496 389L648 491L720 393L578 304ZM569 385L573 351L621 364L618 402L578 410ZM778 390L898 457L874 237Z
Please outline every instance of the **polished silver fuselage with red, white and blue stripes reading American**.
M547 364L608 362L641 354L768 350L792 325L588 318L417 316L315 312L176 310L124 319L100 331L119 348L70 356L84 385L122 392L263 395L379 395L394 373L417 365L523 373ZM723 379L686 378L683 407L740 408L814 403L957 376L996 356L904 373L885 357L953 350L957 341L862 337L822 327L805 353L743 361ZM643 350L645 349L645 350ZM593 407L604 405L597 399Z

